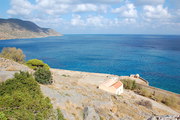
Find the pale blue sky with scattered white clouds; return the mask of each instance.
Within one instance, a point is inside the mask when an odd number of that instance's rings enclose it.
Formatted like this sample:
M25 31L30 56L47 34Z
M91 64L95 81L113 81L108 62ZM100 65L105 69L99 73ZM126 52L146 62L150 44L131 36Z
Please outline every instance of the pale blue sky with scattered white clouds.
M180 0L0 0L0 18L62 34L180 35Z

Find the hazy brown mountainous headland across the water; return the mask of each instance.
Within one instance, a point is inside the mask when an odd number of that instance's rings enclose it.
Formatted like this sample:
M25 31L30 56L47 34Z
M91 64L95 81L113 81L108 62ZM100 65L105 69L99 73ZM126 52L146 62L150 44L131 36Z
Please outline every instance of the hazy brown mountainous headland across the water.
M0 19L0 39L39 38L61 36L49 28L41 28L30 21L20 19Z

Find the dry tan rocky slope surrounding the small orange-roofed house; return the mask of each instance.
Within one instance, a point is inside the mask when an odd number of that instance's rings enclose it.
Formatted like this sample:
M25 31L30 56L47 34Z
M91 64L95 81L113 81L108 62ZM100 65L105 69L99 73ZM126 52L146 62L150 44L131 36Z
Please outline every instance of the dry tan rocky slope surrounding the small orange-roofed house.
M117 96L97 88L97 83L116 76L57 69L51 71L54 84L41 85L41 89L68 120L83 120L91 112L92 120L93 117L101 120L143 120L155 115L178 114L163 104L129 90ZM150 101L152 108L139 105L141 100ZM88 111L91 112L87 113Z

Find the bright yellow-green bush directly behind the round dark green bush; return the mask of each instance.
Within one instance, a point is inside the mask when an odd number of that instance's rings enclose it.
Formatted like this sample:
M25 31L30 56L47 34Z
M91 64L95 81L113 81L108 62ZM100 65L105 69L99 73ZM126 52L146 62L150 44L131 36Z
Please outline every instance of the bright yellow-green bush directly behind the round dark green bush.
M39 67L49 69L50 67L45 64L42 60L32 59L26 62L26 65L33 70L37 70Z

